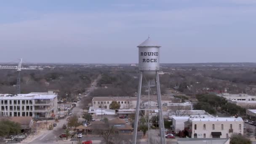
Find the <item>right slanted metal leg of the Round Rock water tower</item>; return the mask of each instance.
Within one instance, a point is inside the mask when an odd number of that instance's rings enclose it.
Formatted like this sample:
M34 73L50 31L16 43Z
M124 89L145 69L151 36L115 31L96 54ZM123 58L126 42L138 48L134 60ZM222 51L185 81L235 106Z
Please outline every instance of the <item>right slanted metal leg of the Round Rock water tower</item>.
M162 114L162 100L161 100L160 80L159 80L158 71L157 71L157 102L158 102L158 108L159 108L158 117L159 117L159 131L160 131L161 144L166 144L165 125L164 125L163 114Z

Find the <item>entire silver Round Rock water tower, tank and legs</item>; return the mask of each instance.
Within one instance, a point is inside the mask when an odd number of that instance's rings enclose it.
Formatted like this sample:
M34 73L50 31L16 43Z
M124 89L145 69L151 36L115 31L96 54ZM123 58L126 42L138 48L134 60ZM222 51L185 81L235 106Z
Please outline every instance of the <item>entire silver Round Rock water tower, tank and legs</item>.
M150 86L157 86L157 104L158 104L158 116L159 116L159 129L160 129L160 138L161 144L165 144L165 128L162 114L162 101L161 101L161 92L160 92L160 81L159 74L160 66L160 45L154 43L149 37L143 43L137 46L139 48L139 88L137 94L137 104L136 104L136 114L134 121L134 134L133 134L133 144L136 144L137 141L137 132L138 132L138 121L139 121L139 112L140 110L147 110L150 112L150 99L148 101L147 107L141 106L141 87L142 82L147 83L148 85L148 98L150 96ZM152 84L153 83L153 84ZM155 106L154 106L155 107ZM149 119L149 118L148 118ZM148 122L149 124L149 122ZM149 132L148 132L149 133Z

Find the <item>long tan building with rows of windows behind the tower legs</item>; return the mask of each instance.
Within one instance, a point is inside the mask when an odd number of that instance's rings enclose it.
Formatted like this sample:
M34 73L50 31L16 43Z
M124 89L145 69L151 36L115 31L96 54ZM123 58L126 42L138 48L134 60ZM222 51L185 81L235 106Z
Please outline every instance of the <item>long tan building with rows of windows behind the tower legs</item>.
M111 96L111 97L100 97L96 96L92 99L92 106L94 108L109 109L109 105L112 101L117 101L120 104L120 109L135 109L137 104L137 97L129 97L129 96ZM142 96L141 101L157 101L157 96L150 96L148 99L147 96ZM172 100L170 97L162 96L162 104L167 105L171 103ZM153 103L152 103L153 104ZM157 103L156 103L157 104Z

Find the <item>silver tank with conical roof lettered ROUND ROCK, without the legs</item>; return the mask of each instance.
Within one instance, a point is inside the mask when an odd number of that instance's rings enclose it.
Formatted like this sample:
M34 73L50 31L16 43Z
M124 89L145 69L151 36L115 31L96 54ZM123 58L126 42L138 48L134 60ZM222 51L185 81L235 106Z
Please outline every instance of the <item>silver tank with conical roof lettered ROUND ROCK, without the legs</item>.
M155 78L156 71L160 70L160 45L154 43L150 38L137 46L139 48L139 70L143 71L147 79Z

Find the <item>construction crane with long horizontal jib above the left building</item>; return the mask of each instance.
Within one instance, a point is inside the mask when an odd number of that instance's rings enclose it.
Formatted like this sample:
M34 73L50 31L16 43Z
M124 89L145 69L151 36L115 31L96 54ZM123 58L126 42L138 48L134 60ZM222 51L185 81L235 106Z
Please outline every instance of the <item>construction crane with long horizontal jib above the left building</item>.
M22 59L20 59L18 66L0 66L0 69L17 69L17 94L21 93L21 69L33 69L33 68L22 68ZM34 68L35 69L35 68Z

